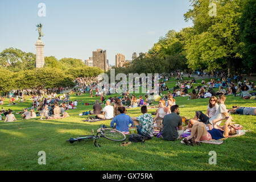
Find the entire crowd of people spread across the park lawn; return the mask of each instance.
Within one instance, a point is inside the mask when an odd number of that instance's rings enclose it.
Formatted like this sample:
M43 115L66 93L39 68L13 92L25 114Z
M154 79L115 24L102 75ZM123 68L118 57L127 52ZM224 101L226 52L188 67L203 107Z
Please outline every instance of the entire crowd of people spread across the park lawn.
M119 96L108 97L104 93L98 93L98 79L92 78L77 78L76 86L71 93L89 93L90 97L93 97L93 90L96 91L95 96L100 100L96 100L93 105L93 111L90 114L96 115L97 119L111 119L110 126L115 129L129 134L130 127L136 127L138 134L153 136L156 132L156 137L163 138L164 140L176 140L181 139L181 135L184 131L191 131L191 135L183 139L183 142L187 145L199 144L201 140L221 139L228 137L229 135L236 134L236 127L232 122L232 114L245 114L255 115L255 107L242 107L233 106L232 109L226 109L225 100L227 95L233 94L234 96L240 96L243 99L250 98L250 91L255 90L253 82L230 77L222 77L221 79L211 79L209 81L202 80L201 85L195 86L195 79L183 80L183 73L176 72L177 84L173 89L168 89L166 81L171 77L174 77L175 73L168 75L160 75L159 79L162 80L159 83L159 93L168 90L168 94L163 98L160 96L158 99L152 99L151 93L147 93L145 96L137 96L133 94L123 93ZM139 80L141 82L141 80ZM214 88L218 88L218 92L214 91ZM191 93L188 90L192 89ZM207 91L206 91L207 90ZM10 102L14 102L19 93L14 93L10 96ZM154 93L153 93L154 94ZM202 111L196 111L195 117L189 119L189 122L184 126L183 119L180 117L179 106L176 104L175 97L188 96L188 100L196 98L209 98L209 104L207 111L204 114ZM3 103L3 98L1 100ZM148 113L148 109L152 107L153 101L158 102L158 109L153 114ZM102 109L102 104L105 107ZM49 94L43 93L35 94L32 96L32 107L25 108L16 114L22 114L23 119L31 119L40 117L40 119L60 119L68 117L66 110L76 109L77 101L70 100L70 94L63 94L63 96L57 96L56 92ZM140 107L141 115L138 117L130 117L126 114L126 111L131 108ZM12 110L0 111L1 117L5 117L4 122L13 122L16 120ZM224 122L224 126L221 126L221 122Z

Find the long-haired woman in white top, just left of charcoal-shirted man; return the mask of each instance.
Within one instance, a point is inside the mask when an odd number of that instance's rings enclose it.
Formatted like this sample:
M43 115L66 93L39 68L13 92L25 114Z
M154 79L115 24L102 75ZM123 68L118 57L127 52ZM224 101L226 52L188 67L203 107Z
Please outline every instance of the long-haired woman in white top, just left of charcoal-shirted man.
M158 130L163 129L163 118L164 115L170 114L168 108L164 100L159 101L159 109L157 110L156 116L154 117L153 121L155 121L155 128Z

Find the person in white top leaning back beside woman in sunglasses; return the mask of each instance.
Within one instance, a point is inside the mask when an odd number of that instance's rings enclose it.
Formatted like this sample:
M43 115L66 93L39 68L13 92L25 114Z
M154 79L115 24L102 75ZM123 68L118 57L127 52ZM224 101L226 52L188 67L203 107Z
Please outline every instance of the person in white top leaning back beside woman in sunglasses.
M212 100L212 98L210 98L210 100ZM220 123L225 120L225 117L229 116L228 110L224 104L225 100L225 95L219 95L217 101L220 105L218 106L215 114L212 115L212 117L209 117L209 115L207 116L201 111L198 111L195 117L189 120L188 127L192 127L196 122L203 122L205 125L208 125L208 127L217 128L217 125L220 125ZM200 121L197 119L200 119Z

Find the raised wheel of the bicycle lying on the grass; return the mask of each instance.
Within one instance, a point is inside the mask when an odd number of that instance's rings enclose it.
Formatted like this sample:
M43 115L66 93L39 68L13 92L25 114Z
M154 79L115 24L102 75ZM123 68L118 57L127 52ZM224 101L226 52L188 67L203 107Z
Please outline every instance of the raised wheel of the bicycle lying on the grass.
M125 134L123 134L121 131L115 130L115 129L102 129L102 137L116 141L116 142L122 142L126 139Z

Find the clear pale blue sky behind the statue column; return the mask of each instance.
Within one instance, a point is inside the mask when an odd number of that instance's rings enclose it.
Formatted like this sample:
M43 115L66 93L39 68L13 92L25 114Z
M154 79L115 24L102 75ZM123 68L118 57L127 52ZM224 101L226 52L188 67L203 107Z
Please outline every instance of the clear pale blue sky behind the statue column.
M39 3L46 17L39 17ZM192 26L183 14L189 0L1 0L0 52L14 47L35 53L36 24L43 24L44 55L89 59L104 49L110 64L122 53L147 52L168 30Z

